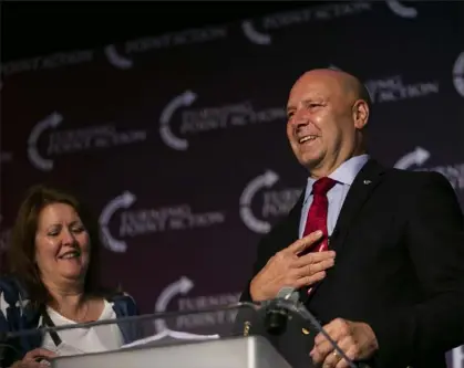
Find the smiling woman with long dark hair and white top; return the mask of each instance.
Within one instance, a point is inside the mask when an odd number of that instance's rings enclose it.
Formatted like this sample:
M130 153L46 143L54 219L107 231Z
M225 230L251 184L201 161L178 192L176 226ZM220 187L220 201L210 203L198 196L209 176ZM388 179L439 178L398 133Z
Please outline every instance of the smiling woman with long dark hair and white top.
M8 274L0 278L0 333L136 315L131 296L101 286L100 243L97 222L74 197L32 187L14 224ZM104 351L137 338L121 327L74 328L40 340L32 335L7 341L12 349L0 366L32 368L64 350Z

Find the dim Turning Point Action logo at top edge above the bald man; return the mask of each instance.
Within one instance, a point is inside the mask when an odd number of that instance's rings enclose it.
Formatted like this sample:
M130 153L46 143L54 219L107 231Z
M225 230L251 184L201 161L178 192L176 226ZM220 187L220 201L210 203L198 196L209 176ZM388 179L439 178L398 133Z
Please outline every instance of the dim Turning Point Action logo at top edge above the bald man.
M271 30L309 23L311 21L329 21L337 18L350 17L370 11L371 9L372 4L367 1L323 4L264 17L258 27L262 31L258 31L252 21L245 20L241 22L241 30L250 42L260 45L270 45L272 43L272 36L269 34L269 31Z

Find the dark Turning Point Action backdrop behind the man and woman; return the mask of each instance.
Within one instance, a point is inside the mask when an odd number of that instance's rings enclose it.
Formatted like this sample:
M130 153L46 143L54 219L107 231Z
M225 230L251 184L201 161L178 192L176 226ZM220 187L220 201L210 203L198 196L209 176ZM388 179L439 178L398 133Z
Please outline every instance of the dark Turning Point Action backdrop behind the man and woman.
M372 155L442 172L464 206L463 23L462 2L302 4L6 63L1 248L24 190L58 183L99 215L105 281L142 312L237 301L259 239L306 183L285 106L313 67L365 83ZM464 353L450 358L461 367Z

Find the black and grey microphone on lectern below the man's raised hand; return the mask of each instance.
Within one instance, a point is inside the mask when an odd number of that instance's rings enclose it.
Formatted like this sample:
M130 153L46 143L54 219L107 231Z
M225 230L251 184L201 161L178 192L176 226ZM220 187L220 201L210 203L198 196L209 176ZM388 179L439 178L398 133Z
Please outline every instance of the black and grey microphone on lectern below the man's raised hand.
M281 335L287 328L288 311L276 304L279 299L290 301L295 304L299 302L300 295L295 287L283 286L277 293L275 299L268 302L266 307L265 327L270 335Z

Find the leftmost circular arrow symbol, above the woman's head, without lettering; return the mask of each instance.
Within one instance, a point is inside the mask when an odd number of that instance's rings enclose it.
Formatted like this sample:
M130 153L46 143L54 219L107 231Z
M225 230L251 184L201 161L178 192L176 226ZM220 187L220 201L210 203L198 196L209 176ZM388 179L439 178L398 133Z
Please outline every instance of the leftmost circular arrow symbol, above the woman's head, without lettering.
M59 113L54 112L47 116L43 120L40 120L35 126L32 128L31 134L29 135L28 139L28 157L31 164L43 171L50 171L53 169L53 160L45 159L39 154L39 149L37 144L39 141L40 135L49 129L55 128L63 120L63 116Z

